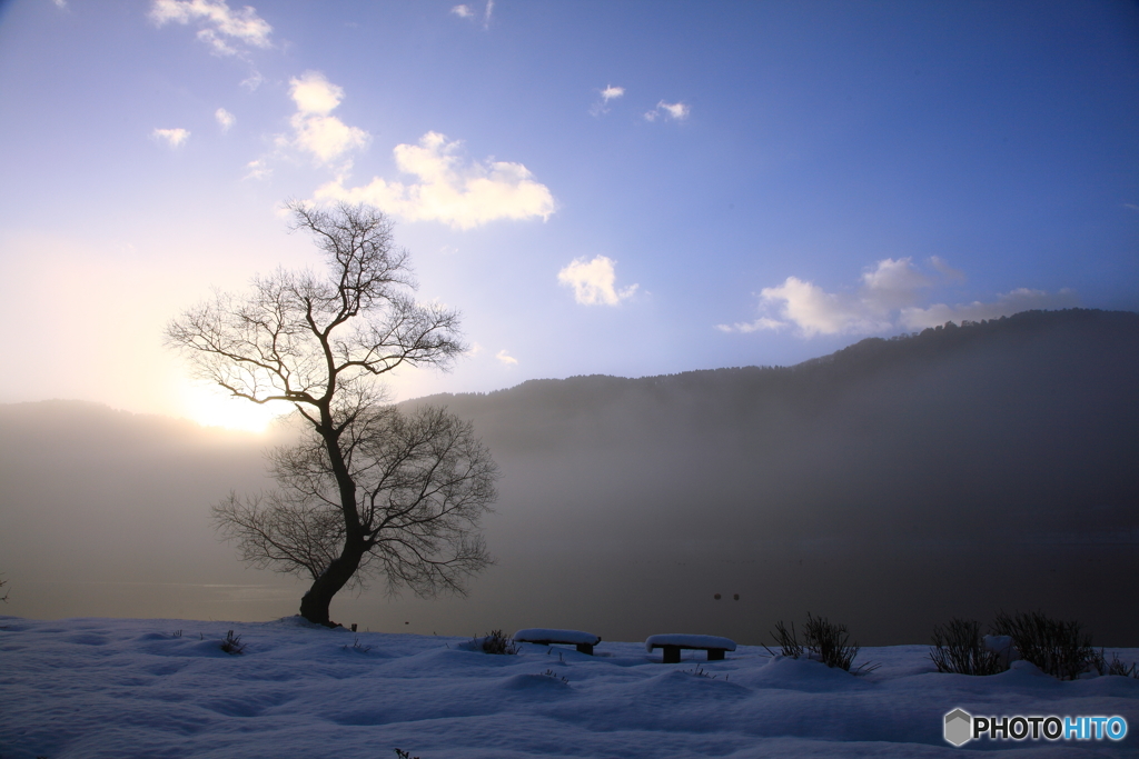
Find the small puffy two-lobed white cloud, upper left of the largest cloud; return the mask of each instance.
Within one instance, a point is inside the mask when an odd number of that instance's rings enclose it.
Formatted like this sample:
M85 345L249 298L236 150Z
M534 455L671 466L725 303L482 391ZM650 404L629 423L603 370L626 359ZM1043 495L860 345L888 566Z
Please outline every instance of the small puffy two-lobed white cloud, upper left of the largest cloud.
M301 79L290 79L289 97L297 112L289 119L294 132L287 142L311 154L319 163L329 164L368 145L371 138L368 132L329 116L344 99L344 89L320 72L305 72Z

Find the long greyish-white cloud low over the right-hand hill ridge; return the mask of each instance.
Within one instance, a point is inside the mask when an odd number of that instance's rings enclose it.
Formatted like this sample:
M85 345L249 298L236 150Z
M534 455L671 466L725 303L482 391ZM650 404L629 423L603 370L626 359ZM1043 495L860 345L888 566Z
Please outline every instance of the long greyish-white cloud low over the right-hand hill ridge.
M788 277L782 284L760 291L761 315L752 322L716 324L724 332L755 332L794 328L801 337L817 335L872 335L895 329L924 329L948 321L997 319L1030 308L1064 308L1077 305L1075 294L1021 288L998 295L995 300L949 306L918 305L921 291L940 282L960 282L965 275L942 258L929 265L939 280L926 275L907 258L883 258L861 275L855 292L827 292L818 284Z

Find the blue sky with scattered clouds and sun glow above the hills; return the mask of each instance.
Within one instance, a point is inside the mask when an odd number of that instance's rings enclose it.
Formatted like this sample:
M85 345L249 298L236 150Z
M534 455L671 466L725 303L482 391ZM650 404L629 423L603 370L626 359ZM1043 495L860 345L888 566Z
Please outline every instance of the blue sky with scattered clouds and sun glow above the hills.
M256 427L164 324L396 220L470 354L398 397L1139 308L1131 2L0 3L0 402Z

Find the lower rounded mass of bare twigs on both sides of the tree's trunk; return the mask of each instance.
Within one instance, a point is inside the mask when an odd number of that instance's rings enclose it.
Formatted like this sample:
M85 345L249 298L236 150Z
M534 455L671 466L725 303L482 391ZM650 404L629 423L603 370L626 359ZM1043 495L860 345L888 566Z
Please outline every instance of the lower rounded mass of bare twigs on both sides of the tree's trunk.
M357 513L372 544L346 585L380 575L391 591L461 593L461 580L489 561L474 528L498 475L472 424L433 406L407 414L382 406L358 416L345 437ZM244 561L316 581L346 534L336 477L318 439L277 448L270 461L280 488L231 494L214 506L214 521Z

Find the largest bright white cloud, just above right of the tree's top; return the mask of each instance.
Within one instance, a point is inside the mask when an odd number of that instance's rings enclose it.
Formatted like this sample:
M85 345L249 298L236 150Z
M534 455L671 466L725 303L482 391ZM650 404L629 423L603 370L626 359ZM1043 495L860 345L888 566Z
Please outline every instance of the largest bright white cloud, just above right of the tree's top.
M428 132L419 145L398 145L395 166L419 179L413 184L374 178L363 187L345 188L343 179L317 189L316 200L367 203L408 221L437 221L472 229L500 218L543 221L554 213L549 188L522 164L494 160L468 163L461 142Z

